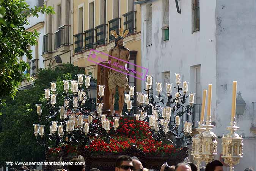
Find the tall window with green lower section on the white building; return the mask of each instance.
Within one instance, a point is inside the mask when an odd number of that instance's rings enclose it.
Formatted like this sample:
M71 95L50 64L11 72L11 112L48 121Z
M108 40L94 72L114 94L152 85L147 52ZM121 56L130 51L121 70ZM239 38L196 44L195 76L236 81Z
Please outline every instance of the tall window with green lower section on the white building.
M169 40L169 0L163 0L163 40Z

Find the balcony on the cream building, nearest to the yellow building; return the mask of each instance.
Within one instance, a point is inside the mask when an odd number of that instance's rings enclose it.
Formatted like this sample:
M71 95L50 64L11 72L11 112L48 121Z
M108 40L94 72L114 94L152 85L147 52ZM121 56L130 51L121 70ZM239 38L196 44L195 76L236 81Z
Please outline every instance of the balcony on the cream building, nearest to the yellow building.
M58 28L58 31L54 33L54 49L62 47L59 51L64 52L69 50L69 25L64 25ZM66 46L66 47L65 47Z

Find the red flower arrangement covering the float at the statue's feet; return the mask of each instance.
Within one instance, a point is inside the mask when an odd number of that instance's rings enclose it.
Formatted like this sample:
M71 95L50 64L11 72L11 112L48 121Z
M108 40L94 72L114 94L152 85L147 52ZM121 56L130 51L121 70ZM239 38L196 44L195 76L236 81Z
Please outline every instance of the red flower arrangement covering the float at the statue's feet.
M110 140L104 138L91 137L91 142L84 148L93 154L120 154L129 149L132 145L136 145L146 155L176 156L177 151L173 145L165 144L152 138L152 132L147 122L134 121L120 118L119 127L116 131L110 130ZM113 127L113 122L111 122ZM49 150L51 157L56 157L60 149L67 154L72 155L77 152L77 146L62 145L58 148Z

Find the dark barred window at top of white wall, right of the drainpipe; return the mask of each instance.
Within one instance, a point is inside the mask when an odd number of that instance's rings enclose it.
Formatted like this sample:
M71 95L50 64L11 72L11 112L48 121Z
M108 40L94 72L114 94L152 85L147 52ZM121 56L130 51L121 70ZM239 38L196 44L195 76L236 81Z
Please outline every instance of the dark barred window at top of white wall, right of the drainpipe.
M192 2L192 31L196 32L200 30L199 0L192 0Z

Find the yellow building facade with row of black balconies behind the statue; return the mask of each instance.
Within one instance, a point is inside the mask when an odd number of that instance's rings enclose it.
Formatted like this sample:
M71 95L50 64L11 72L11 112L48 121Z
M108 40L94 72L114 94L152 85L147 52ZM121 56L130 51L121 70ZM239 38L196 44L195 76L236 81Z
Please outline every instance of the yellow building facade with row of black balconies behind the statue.
M124 38L124 46L130 50L130 61L141 66L141 7L133 0L75 0L73 14L73 64L85 68L97 78L97 65L88 61L90 53L107 60L106 55L95 53L91 49L108 54L115 47L115 37L110 30L119 32L122 26L129 29ZM139 67L135 67L141 72ZM141 90L141 80L130 76L129 84Z

